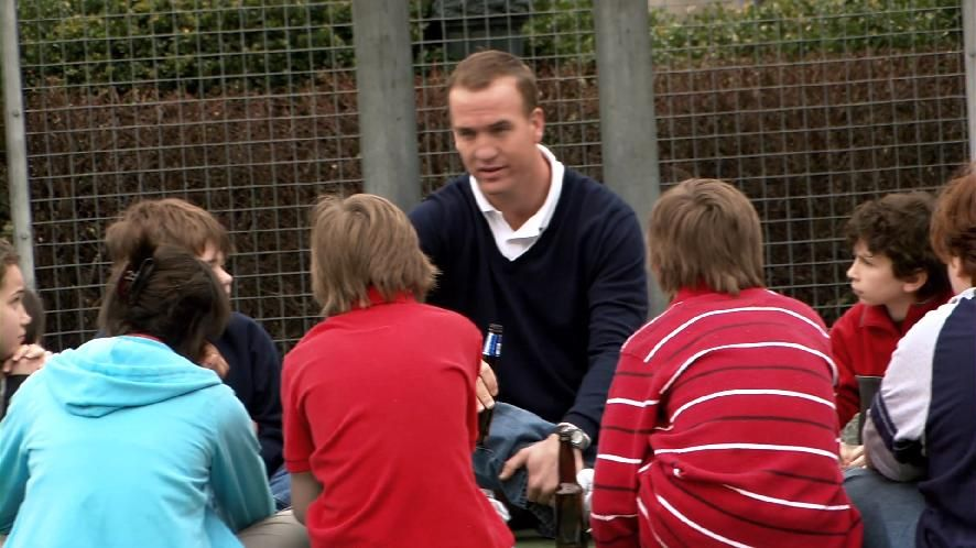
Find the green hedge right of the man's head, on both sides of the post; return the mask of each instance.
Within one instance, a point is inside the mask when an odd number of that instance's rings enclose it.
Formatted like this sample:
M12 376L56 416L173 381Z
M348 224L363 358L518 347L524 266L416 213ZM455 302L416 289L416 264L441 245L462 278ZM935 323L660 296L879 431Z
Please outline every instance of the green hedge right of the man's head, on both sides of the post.
M543 0L528 23L539 56L594 56L592 2ZM654 62L737 61L870 50L958 48L961 4L953 0L764 0L738 9L722 3L679 17L651 9Z

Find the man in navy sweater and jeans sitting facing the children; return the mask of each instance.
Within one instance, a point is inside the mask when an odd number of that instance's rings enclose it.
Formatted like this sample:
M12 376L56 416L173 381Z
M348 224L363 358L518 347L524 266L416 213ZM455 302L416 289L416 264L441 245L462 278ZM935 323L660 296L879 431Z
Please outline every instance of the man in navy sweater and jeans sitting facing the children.
M511 406L496 408L487 446L506 459L497 472L506 484L488 482L477 454L476 472L516 506L527 497L544 506L559 482L556 431L574 435L581 462L597 439L620 346L647 318L640 224L620 198L540 144L535 77L517 57L473 54L447 90L468 173L410 213L442 273L429 302L482 331L505 327L495 373ZM485 371L482 381L479 398L491 406L495 377Z

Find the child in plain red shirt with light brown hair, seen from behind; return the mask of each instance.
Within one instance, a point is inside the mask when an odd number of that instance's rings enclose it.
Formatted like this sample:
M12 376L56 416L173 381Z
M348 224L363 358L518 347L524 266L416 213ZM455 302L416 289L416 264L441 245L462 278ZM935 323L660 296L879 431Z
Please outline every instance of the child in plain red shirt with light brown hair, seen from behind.
M421 304L436 270L378 196L312 213L324 321L285 357L285 465L313 548L511 548L475 483L481 335Z

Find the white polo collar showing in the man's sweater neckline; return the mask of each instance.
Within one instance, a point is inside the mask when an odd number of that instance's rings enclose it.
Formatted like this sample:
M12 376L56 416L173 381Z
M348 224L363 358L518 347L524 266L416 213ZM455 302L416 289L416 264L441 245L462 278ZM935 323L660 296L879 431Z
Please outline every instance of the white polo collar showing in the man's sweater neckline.
M549 184L549 194L545 196L545 201L542 202L542 207L539 208L539 211L535 211L535 215L530 217L529 220L519 227L519 230L512 230L509 223L506 222L505 217L502 217L501 211L495 209L495 206L492 206L488 201L488 198L481 194L481 189L478 188L478 182L475 179L475 176L471 175L469 177L471 194L475 195L475 201L478 202L478 208L481 210L481 213L485 215L485 220L488 221L488 228L491 229L491 234L495 237L495 244L498 245L498 251L500 251L509 261L514 261L539 241L542 231L549 227L549 222L552 220L556 204L560 201L560 193L563 190L563 174L566 171L565 166L553 156L549 149L541 144L536 144L535 146L539 147L542 156L549 162L552 178Z

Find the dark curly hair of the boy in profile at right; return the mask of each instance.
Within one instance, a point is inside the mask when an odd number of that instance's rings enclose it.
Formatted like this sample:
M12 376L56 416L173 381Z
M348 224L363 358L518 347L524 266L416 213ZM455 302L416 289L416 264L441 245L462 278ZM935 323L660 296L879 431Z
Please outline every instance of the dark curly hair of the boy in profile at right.
M847 243L854 246L861 241L871 253L883 253L900 280L924 271L926 281L918 291L919 297L943 293L948 288L945 265L929 242L934 206L935 200L926 193L889 194L866 201L847 221Z

